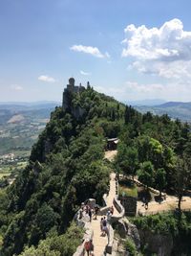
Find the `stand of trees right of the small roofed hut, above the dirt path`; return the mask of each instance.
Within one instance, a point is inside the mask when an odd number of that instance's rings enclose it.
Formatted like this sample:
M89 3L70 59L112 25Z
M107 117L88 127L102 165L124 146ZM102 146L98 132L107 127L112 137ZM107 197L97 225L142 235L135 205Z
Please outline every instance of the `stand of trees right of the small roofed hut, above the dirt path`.
M117 172L131 175L148 188L177 194L191 189L191 132L187 123L171 121L167 115L141 115L125 108L125 125L115 162ZM179 203L180 208L180 203Z

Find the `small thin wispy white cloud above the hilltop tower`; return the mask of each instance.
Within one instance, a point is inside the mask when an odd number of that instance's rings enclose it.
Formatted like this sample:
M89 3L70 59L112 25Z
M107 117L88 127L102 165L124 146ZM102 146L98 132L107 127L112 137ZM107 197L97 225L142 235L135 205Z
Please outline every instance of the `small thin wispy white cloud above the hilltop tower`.
M84 45L73 45L71 48L74 52L81 52L95 56L96 58L110 58L110 55L106 52L102 54L97 47L84 46Z

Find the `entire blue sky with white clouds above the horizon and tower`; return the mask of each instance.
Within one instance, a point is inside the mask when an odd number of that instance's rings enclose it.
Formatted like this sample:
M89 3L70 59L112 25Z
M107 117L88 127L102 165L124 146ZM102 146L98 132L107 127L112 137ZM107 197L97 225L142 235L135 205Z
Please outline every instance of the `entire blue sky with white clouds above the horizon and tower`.
M191 101L190 0L0 0L0 101Z

